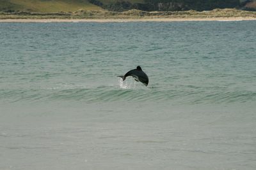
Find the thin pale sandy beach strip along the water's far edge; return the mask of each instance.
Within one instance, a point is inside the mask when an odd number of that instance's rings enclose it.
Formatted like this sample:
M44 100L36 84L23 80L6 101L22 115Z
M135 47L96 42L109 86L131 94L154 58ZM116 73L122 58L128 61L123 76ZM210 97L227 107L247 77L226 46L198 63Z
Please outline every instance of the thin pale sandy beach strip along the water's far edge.
M83 19L60 19L60 18L7 18L0 19L0 22L184 22L184 21L242 21L242 20L256 20L255 17L209 17L209 18L83 18Z

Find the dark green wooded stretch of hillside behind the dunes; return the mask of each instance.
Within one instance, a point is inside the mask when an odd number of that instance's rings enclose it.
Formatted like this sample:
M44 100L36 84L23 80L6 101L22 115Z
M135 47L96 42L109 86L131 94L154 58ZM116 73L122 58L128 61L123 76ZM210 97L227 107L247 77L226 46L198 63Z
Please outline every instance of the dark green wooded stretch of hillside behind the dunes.
M110 11L209 11L216 8L256 10L256 0L88 0ZM106 1L108 3L106 3Z

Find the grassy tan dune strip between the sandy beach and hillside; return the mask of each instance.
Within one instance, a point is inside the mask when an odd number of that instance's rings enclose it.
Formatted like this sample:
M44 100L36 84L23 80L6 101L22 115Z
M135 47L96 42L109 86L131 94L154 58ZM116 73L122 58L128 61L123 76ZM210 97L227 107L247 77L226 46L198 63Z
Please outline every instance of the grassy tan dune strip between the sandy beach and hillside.
M14 12L0 13L0 19L136 19L136 18L234 18L247 17L256 19L256 11L242 11L236 9L216 9L212 11L140 11L129 10L124 12L114 12L106 10L78 10L74 12L59 13L30 13L30 12Z

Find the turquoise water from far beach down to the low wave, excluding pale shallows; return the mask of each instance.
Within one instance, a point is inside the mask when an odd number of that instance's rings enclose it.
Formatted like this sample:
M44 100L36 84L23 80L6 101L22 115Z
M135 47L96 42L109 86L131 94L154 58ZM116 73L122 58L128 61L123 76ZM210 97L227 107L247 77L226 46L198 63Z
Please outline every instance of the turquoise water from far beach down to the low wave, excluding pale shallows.
M1 24L0 100L255 103L255 24ZM148 87L120 88L138 65Z

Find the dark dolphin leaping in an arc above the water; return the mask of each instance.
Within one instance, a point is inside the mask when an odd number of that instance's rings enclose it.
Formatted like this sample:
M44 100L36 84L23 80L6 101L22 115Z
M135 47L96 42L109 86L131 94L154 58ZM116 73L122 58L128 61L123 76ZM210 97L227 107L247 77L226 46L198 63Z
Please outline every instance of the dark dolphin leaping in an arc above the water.
M118 77L122 78L124 81L127 76L132 76L135 81L141 81L141 83L143 83L145 86L148 85L148 76L146 73L144 73L144 71L142 71L140 66L137 66L136 69L128 71L124 76Z

